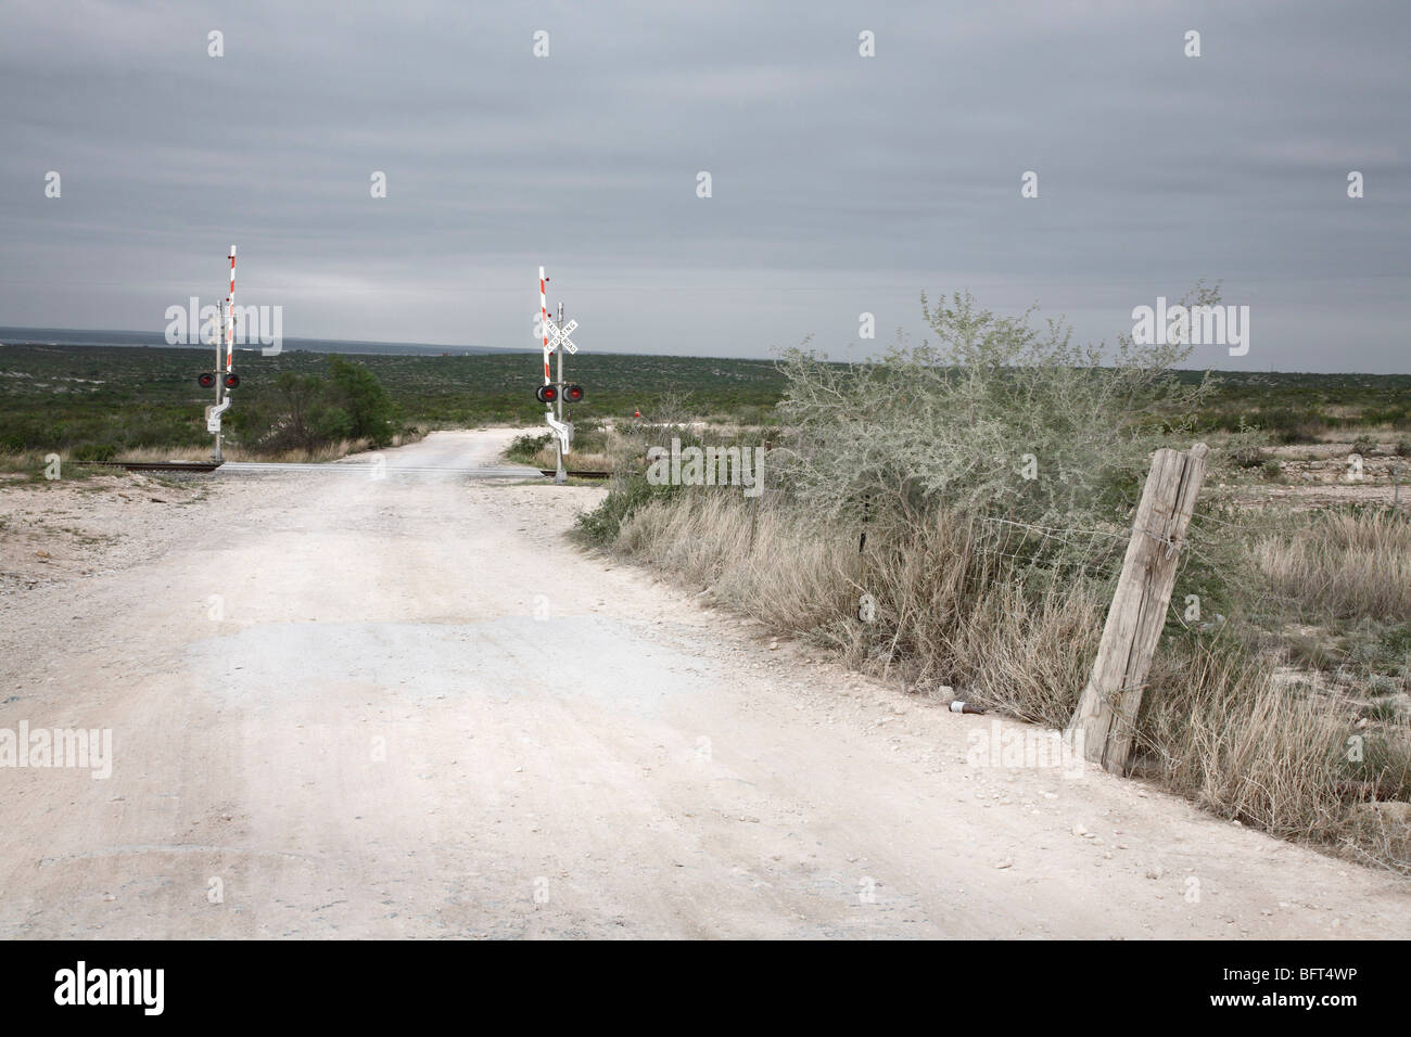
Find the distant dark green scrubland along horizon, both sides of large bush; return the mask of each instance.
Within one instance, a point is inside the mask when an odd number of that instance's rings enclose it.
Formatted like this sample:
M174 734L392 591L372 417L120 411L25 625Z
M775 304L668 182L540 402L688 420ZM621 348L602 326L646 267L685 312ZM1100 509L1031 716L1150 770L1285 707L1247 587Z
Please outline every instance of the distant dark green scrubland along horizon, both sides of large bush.
M385 411L374 411L394 429L542 420L543 408L533 399L539 363L532 353L363 354L344 363L382 388ZM196 385L196 375L210 368L206 351L188 347L3 344L0 451L100 459L126 449L207 443L203 408L212 394ZM237 440L268 437L278 415L288 413L293 382L281 382L284 375L323 380L334 392L329 356L320 353L240 351L236 370L241 385L227 427ZM567 374L586 389L584 402L573 408L576 419L628 418L638 409L650 415L656 401L689 394L698 418L776 423L775 404L785 392L772 360L584 351L567 360ZM1202 374L1174 377L1194 382ZM1359 425L1411 429L1411 375L1225 372L1219 378L1198 418L1202 430L1237 430L1245 422L1280 442L1307 442L1324 430ZM323 404L315 412L325 429L343 425L336 412L347 413L346 408Z

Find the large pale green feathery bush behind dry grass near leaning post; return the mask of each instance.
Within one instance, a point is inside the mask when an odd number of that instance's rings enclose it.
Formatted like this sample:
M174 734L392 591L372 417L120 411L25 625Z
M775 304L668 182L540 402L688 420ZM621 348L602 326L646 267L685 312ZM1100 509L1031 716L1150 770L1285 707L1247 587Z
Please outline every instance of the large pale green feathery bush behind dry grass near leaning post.
M1213 303L1198 288L1188 305ZM818 515L950 508L1055 526L1125 522L1151 450L1189 446L1212 382L1175 377L1188 346L1106 353L1060 320L1002 317L957 293L923 315L937 341L840 367L803 348L783 357L780 412L794 491ZM780 451L783 454L783 451Z

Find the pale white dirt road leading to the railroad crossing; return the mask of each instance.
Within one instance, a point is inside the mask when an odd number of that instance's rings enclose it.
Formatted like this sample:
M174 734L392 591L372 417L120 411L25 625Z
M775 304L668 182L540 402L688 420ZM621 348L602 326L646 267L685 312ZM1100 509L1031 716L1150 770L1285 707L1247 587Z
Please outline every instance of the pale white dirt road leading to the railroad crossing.
M1403 880L978 756L1033 729L583 554L600 488L449 471L509 435L230 470L7 591L0 729L107 728L113 759L0 768L0 937L1411 931Z

